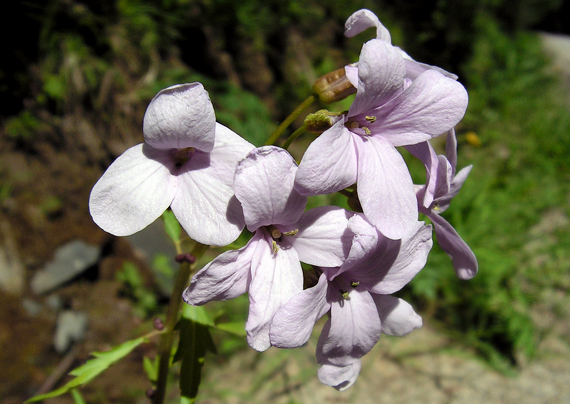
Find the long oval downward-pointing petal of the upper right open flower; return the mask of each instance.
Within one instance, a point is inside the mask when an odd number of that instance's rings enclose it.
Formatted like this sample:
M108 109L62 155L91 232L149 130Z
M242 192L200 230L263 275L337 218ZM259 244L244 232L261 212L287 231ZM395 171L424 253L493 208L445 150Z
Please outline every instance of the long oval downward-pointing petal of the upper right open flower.
M386 237L402 238L418 219L408 167L385 139L373 136L358 140L358 198L364 214Z

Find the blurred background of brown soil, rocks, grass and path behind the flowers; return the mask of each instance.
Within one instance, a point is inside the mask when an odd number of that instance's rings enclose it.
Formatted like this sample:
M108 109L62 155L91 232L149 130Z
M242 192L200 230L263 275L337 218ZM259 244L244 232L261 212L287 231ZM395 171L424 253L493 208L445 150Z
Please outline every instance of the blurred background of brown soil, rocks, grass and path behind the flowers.
M343 32L360 8L469 91L458 168L474 169L444 216L479 274L458 280L434 246L399 292L424 328L383 337L342 394L316 379L318 333L264 354L215 333L198 402L570 402L570 2L45 0L0 17L1 403L57 387L164 312L175 266L160 221L115 238L88 212L102 172L142 142L150 99L200 81L218 121L260 146L316 78L358 60L375 33ZM247 297L209 310L243 320ZM142 361L153 355L137 349L82 389L86 402L148 402Z

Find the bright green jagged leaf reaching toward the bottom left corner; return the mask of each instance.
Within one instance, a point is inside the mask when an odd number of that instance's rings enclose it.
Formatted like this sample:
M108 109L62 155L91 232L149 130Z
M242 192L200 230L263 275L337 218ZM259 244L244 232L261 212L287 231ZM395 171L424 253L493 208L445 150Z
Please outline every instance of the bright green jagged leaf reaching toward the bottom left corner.
M95 377L99 376L99 374L105 369L127 356L133 349L144 342L148 342L148 339L141 337L132 341L127 341L107 352L93 352L92 355L95 359L90 359L83 366L69 372L70 375L76 376L73 380L70 380L64 386L50 393L32 397L26 401L26 403L33 403L45 400L46 398L57 397L73 390L76 387L89 383Z

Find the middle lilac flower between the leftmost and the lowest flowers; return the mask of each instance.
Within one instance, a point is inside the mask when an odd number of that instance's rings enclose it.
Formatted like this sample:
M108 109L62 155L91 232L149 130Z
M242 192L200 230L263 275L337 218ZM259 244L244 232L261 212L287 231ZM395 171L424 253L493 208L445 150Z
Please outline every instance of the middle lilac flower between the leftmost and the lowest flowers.
M352 213L336 206L303 213L307 198L293 187L296 171L291 155L274 146L255 149L238 164L235 194L254 235L245 247L220 254L200 270L183 295L187 303L201 305L249 292L247 341L258 351L270 346L275 312L303 289L300 261L340 266L350 248Z

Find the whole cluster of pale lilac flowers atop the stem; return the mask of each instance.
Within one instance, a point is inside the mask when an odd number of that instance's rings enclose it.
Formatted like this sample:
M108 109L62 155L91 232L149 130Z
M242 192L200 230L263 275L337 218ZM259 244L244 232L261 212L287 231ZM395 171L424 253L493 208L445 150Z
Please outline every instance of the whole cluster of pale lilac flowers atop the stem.
M305 344L328 315L318 377L340 390L355 382L360 358L382 333L403 336L422 325L408 303L391 296L424 267L432 247L432 226L418 221L419 213L433 223L457 275L477 273L474 254L439 215L471 169L455 169L465 88L393 46L369 10L347 20L346 35L370 27L377 38L344 68L350 88L345 82L338 92L356 93L352 105L325 114L300 164L283 148L255 148L216 123L202 85L184 84L151 101L145 143L120 156L90 197L93 219L115 235L141 230L168 207L202 244L227 245L247 227L250 241L197 272L183 299L202 305L247 292L247 341L259 351ZM446 155L438 156L429 140L445 133ZM426 184L413 184L397 147L422 161ZM308 196L338 191L351 195L354 211L305 211ZM305 289L301 262L318 278Z

